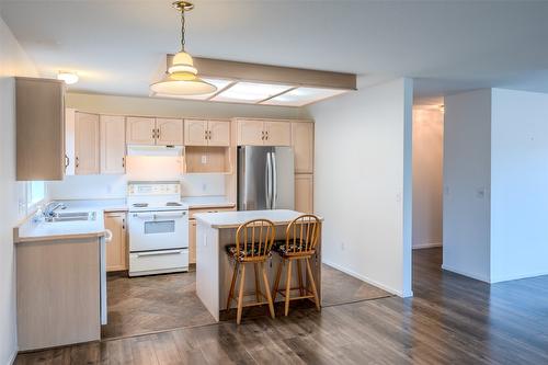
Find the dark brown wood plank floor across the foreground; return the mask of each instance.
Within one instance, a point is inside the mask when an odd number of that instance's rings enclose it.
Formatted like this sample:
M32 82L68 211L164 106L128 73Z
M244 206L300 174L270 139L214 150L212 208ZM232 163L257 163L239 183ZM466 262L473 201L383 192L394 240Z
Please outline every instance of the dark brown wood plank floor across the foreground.
M548 364L548 276L489 286L413 253L414 297L20 354L16 364Z

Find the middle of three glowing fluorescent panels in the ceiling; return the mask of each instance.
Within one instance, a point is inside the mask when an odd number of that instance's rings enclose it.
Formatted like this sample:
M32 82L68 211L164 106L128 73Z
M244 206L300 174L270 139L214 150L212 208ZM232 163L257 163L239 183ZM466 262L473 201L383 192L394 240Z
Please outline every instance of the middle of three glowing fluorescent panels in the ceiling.
M238 82L237 84L221 91L213 101L258 103L261 100L285 92L294 88L287 84Z

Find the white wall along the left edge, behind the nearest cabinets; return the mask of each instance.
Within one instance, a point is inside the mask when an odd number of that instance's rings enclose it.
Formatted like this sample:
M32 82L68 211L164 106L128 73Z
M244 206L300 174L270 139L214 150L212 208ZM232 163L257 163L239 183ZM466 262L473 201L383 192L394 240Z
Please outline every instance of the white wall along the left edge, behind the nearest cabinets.
M16 353L13 227L26 214L25 183L15 182L15 99L13 76L36 76L0 18L0 364Z

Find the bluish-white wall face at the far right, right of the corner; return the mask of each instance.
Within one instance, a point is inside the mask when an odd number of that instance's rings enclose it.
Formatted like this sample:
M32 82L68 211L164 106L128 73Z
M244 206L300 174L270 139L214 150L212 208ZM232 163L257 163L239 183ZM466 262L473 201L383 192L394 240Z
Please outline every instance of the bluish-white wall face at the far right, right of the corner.
M491 282L548 274L548 94L493 89Z

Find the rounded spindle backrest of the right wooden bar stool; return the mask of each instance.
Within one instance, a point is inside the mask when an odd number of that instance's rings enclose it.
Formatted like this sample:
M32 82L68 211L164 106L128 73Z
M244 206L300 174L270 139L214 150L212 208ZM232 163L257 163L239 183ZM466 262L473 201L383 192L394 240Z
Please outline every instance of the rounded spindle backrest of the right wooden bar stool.
M310 255L315 253L320 238L321 220L313 214L295 218L285 231L287 255Z

